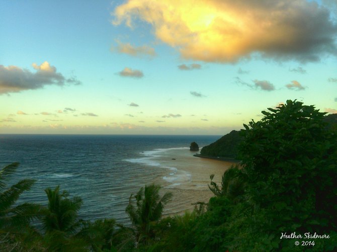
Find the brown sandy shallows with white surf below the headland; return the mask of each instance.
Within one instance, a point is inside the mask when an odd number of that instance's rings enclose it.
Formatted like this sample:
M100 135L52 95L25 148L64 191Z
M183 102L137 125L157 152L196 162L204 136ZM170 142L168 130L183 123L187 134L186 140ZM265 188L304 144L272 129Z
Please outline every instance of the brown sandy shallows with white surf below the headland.
M158 149L144 152L140 163L157 166L162 174L153 181L163 187L162 193L173 192L173 199L165 207L164 215L181 214L193 210L192 203L208 202L213 196L207 184L209 176L220 182L223 172L233 163L194 157L189 148Z

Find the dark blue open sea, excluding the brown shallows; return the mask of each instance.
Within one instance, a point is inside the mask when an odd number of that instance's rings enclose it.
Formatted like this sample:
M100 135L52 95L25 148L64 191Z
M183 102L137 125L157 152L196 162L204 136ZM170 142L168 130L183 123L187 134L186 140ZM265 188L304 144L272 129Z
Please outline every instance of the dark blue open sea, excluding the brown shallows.
M116 218L127 223L125 207L131 193L157 181L162 169L129 159L155 149L208 145L219 136L98 136L0 135L0 166L20 162L9 185L36 180L20 202L47 204L44 189L60 185L70 196L80 196L84 219Z

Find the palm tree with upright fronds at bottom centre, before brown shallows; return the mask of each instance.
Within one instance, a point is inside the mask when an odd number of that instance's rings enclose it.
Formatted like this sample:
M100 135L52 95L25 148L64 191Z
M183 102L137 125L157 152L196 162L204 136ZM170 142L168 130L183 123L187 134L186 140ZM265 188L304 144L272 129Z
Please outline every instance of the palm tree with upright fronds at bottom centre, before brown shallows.
M172 193L166 192L159 196L159 185L145 185L136 195L131 194L125 211L135 227L136 241L148 244L154 238L153 226L161 218L164 206L172 198ZM132 198L135 198L136 205Z

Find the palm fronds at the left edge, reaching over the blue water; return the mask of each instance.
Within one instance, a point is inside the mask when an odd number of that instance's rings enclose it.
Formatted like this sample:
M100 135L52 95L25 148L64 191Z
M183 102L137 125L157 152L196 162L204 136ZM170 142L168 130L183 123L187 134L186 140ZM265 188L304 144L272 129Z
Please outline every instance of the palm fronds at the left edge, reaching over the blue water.
M8 180L17 170L19 163L10 164L0 170L0 230L20 230L27 227L40 212L38 204L23 203L15 206L20 195L28 191L35 180L24 179L7 188Z

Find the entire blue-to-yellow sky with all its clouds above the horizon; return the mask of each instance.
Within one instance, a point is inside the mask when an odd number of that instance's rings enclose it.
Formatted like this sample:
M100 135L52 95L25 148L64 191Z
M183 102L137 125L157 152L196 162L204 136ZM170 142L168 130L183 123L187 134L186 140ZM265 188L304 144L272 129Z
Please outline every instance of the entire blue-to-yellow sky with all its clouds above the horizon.
M224 135L337 113L337 1L0 1L0 134Z

